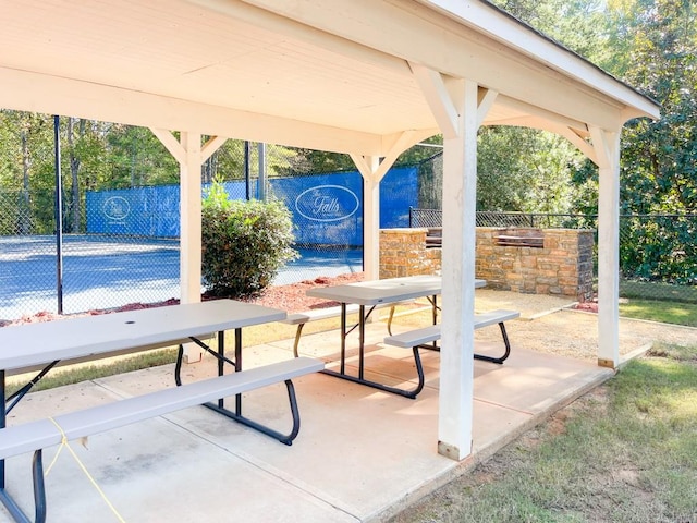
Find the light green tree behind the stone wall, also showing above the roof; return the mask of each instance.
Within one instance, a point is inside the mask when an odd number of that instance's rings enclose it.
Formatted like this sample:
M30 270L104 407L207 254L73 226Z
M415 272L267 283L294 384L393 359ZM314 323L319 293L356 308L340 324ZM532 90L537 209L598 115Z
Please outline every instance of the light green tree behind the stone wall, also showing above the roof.
M600 0L498 0L494 3L558 44L595 62L608 56ZM587 160L566 139L522 127L479 134L477 208L565 214L597 202ZM575 182L575 183L574 183ZM591 207L597 207L595 204Z

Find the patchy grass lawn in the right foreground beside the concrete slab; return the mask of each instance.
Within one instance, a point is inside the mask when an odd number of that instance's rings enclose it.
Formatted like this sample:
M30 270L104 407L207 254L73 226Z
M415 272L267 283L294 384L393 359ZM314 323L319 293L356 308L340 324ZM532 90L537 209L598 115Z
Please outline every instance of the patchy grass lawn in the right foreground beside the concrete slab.
M696 384L659 348L393 523L697 521Z

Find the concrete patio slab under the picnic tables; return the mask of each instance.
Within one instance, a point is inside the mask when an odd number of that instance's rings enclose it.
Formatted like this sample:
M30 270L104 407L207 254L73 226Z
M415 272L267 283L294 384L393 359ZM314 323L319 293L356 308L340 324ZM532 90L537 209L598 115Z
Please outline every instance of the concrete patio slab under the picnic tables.
M368 326L371 377L413 381L411 351L384 348L384 325ZM353 336L353 335L352 335ZM303 337L304 354L335 357L337 331ZM353 342L350 345L353 346ZM478 351L501 350L478 343ZM125 521L375 522L384 521L466 473L553 410L612 375L589 362L513 345L499 366L475 362L473 454L454 462L437 453L439 354L424 352L427 386L416 400L321 374L294 380L302 415L291 447L205 408L91 437L75 450ZM292 357L292 340L245 348L245 367ZM352 355L355 357L355 355ZM350 360L350 366L354 360ZM212 375L209 358L183 379ZM170 387L173 366L35 392L11 423ZM245 394L245 415L290 428L282 386ZM47 449L48 466L56 448ZM8 461L9 490L33 510L29 455ZM47 478L50 522L118 521L65 450ZM0 509L0 518L5 513Z

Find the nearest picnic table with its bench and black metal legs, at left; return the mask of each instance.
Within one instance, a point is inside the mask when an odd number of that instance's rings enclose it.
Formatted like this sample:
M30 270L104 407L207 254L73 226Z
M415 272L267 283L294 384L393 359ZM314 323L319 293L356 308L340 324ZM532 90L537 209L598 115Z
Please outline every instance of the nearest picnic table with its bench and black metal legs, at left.
M49 445L86 437L119 426L204 404L279 441L291 445L299 429L299 414L291 378L317 372L323 364L314 358L293 358L243 370L242 328L279 321L285 312L260 305L219 300L204 303L129 311L49 323L0 328L0 501L15 521L30 521L5 488L4 460L35 450L36 521L46 518L41 450ZM234 360L225 355L224 332L234 330ZM217 348L204 341L217 333ZM218 377L182 385L183 343L195 342L218 358ZM97 357L180 345L174 380L178 387L126 398L73 413L56 413L46 419L7 427L8 413L52 368ZM225 374L225 365L234 373ZM10 374L38 374L11 396L5 392ZM242 414L242 392L285 381L293 428L289 434L264 426ZM234 408L224 398L234 397Z

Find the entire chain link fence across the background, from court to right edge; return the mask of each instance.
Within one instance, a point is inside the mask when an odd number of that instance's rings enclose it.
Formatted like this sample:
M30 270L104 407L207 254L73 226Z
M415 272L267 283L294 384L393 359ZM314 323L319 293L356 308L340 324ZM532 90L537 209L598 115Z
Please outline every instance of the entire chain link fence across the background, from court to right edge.
M93 130L94 136L109 134L109 147L120 153L95 163L65 155L59 242L53 150L38 141L39 131L28 135L26 161L14 159L8 165L17 169L3 171L14 181L3 179L0 188L0 320L41 311L78 313L179 299L179 166L171 155L147 130ZM279 198L293 211L301 257L288 264L274 284L363 270L359 174L353 173L353 181L341 178L352 175L345 172L308 174L304 161L286 147L228 141L201 169L204 184L230 183L233 198ZM391 185L383 179L381 220L389 216L381 227L441 226L441 211L435 209L442 196L442 154L411 169L416 170L414 186L405 182L412 180L411 172L400 172ZM316 177L315 186L326 190L321 197L302 184L286 183L304 177ZM97 194L99 205L90 199ZM129 198L139 199L136 205ZM338 203L344 209L341 220ZM303 216L310 204L323 216ZM409 205L419 208L407 212ZM130 212L137 224L129 230L123 223ZM100 222L103 227L95 227ZM596 217L478 212L477 224L595 230ZM697 302L696 236L694 215L622 217L624 295Z

